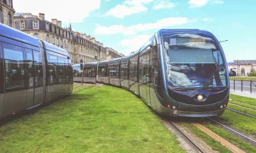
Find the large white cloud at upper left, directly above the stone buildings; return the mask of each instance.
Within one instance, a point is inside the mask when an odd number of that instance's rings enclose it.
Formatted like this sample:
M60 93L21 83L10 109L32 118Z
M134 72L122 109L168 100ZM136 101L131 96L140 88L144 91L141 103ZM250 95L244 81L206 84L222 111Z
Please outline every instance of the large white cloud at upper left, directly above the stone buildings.
M16 13L44 13L45 19L57 18L62 22L83 22L93 10L100 8L101 0L35 0L13 1ZM56 10L58 9L58 11Z

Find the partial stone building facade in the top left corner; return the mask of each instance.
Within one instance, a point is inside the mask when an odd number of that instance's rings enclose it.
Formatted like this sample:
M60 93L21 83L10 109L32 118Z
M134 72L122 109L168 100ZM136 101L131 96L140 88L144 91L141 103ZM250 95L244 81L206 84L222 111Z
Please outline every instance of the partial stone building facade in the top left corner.
M14 16L15 10L13 9L12 0L0 0L0 22L1 24L14 27Z

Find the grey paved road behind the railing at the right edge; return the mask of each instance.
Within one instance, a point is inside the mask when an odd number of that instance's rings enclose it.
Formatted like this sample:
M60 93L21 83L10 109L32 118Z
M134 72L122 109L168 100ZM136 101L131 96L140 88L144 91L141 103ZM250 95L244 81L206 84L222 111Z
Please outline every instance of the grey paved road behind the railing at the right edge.
M256 85L256 81L253 82ZM256 94L256 87L252 84L252 93ZM236 91L241 91L241 81L235 81ZM230 80L230 90L234 91L234 80ZM250 81L243 81L243 92L250 92Z

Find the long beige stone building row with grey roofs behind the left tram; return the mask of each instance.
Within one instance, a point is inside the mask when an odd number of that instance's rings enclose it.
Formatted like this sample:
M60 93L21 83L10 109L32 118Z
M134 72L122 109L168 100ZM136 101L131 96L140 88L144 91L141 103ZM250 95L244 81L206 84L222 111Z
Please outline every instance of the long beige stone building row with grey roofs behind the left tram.
M56 18L49 22L45 20L43 13L39 13L38 16L31 13L16 13L14 20L15 29L67 50L72 63L79 63L81 59L83 62L106 59L106 48L102 43L90 35L72 31L71 25L62 27L61 21Z

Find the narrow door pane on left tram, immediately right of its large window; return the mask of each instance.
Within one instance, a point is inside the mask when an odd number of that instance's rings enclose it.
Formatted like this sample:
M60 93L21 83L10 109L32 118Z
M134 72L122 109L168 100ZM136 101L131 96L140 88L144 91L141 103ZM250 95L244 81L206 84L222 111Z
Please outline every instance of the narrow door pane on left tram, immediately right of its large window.
M34 86L34 63L33 63L33 52L31 49L26 48L26 65L27 65L27 80L28 87L31 88Z

